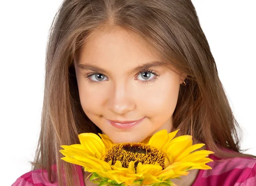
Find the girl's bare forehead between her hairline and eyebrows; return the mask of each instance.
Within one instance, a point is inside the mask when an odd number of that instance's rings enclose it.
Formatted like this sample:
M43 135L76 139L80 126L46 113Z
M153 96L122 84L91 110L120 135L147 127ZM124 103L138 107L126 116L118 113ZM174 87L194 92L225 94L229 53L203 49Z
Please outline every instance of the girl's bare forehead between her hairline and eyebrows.
M76 57L79 64L87 62L87 59L102 61L102 58L104 61L126 59L129 62L142 59L145 61L160 60L157 52L149 47L140 36L120 27L93 31Z

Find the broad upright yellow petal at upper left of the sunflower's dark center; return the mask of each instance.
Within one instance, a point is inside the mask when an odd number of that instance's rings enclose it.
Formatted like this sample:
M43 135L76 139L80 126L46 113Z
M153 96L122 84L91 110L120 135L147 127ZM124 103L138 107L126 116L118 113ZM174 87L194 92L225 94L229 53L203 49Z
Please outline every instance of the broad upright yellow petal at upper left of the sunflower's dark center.
M102 153L104 153L102 149L105 149L105 145L98 135L94 133L81 133L78 137L81 145L84 146L90 156L102 158Z

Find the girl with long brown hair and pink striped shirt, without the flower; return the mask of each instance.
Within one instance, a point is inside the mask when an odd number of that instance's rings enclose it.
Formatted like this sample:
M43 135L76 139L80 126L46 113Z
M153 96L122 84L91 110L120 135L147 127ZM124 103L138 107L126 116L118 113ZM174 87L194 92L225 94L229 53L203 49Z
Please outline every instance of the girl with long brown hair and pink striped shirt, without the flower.
M34 167L13 186L93 185L81 166L61 160L62 144L78 144L83 132L140 142L162 129L215 152L211 170L192 170L177 185L256 184L256 157L241 153L190 0L64 0L47 45Z

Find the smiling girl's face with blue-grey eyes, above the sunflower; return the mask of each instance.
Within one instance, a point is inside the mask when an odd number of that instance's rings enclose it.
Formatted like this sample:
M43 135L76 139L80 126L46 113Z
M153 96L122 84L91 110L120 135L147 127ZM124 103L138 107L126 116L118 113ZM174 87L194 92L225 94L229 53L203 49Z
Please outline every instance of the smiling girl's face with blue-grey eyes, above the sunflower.
M141 142L159 130L175 130L172 114L185 78L155 66L160 58L133 36L122 28L97 31L75 59L84 113L114 143ZM135 125L109 121L142 118Z

